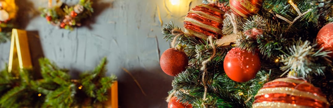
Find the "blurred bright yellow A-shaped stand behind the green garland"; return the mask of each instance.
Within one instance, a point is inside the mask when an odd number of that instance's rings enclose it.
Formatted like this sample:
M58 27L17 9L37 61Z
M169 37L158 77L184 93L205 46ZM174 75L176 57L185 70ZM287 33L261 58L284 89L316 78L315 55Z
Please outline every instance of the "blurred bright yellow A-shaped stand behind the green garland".
M8 72L18 72L20 69L32 69L27 32L13 29L10 43Z

